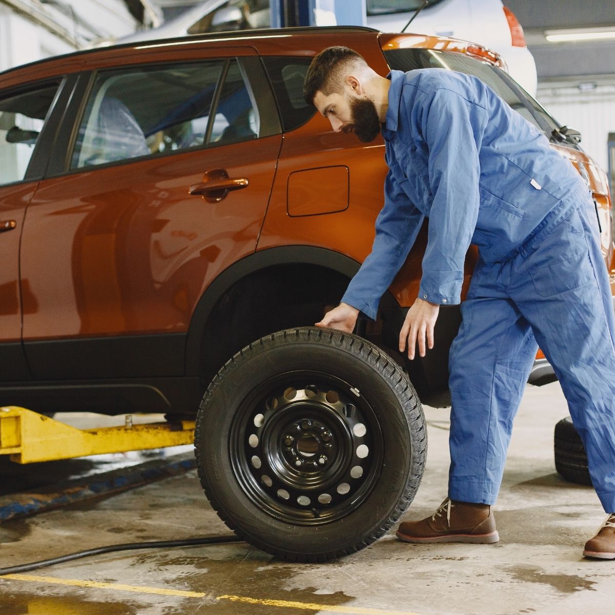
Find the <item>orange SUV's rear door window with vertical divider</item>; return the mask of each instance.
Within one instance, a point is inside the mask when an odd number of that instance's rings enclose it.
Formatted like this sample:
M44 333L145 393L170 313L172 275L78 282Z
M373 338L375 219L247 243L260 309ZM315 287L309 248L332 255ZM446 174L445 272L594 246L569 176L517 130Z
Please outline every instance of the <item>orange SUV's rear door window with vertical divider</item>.
M237 60L105 71L87 101L71 168L253 139L258 129Z

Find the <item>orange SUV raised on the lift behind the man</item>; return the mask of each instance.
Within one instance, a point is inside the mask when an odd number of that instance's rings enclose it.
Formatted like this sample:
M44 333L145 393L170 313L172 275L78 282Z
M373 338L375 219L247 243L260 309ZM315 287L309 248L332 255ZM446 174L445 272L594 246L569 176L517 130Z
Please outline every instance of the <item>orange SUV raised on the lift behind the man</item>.
M0 403L194 415L239 349L338 303L370 250L386 165L382 140L334 134L304 103L311 58L332 44L383 75L483 79L587 180L611 263L605 173L482 47L297 28L77 52L0 74ZM425 242L359 335L396 346ZM405 365L432 405L447 402L459 321L443 308L434 351Z

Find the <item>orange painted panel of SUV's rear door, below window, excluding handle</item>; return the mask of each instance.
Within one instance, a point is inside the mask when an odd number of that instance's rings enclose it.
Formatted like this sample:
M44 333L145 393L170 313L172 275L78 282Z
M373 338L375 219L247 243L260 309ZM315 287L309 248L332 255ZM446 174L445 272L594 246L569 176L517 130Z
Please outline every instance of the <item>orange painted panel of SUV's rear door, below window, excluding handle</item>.
M24 339L188 328L205 287L253 252L281 137L154 157L42 181L22 272L39 305ZM188 187L226 169L249 185L212 204Z

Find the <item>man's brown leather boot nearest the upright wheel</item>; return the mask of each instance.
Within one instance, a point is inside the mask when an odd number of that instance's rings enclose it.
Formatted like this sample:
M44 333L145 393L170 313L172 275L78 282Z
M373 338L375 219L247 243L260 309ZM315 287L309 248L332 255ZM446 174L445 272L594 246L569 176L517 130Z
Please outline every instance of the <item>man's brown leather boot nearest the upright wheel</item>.
M400 523L397 538L406 542L473 544L491 544L499 541L491 506L457 502L449 498L440 504L431 517L421 521Z

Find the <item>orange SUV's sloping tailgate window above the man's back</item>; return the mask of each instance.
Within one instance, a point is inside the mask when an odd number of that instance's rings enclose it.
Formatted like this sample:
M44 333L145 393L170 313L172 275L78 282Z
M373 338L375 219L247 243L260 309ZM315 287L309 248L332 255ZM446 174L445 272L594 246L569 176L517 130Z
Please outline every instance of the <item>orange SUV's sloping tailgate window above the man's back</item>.
M411 71L416 68L444 68L478 77L517 113L550 137L559 128L538 101L534 100L502 69L464 54L434 49L391 49L384 55L391 69ZM568 145L568 144L567 144Z

